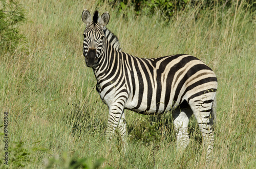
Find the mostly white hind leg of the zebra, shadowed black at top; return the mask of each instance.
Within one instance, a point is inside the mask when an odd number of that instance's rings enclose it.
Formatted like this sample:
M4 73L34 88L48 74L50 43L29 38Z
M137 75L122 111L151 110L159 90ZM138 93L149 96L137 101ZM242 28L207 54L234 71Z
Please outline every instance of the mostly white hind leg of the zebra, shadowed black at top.
M183 105L183 107L181 107ZM174 127L177 136L177 151L183 152L189 143L188 136L188 123L189 118L193 114L190 107L186 104L182 104L180 107L176 108L173 112L174 117Z

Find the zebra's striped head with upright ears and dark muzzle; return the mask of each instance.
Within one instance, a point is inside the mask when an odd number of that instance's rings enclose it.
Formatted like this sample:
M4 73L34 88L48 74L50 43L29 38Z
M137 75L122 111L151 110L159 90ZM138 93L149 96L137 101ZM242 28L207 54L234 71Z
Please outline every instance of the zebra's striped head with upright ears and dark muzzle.
M94 12L93 20L87 9L82 12L82 21L86 23L83 32L83 56L88 67L95 67L102 52L102 46L106 40L103 28L108 24L110 15L104 12L101 17L98 11Z

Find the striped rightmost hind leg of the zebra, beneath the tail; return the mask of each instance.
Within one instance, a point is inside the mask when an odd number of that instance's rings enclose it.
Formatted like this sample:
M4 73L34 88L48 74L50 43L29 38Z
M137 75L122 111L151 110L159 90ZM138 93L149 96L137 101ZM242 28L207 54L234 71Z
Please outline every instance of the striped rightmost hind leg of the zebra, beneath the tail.
M203 136L203 145L207 147L206 160L210 160L210 153L214 148L214 118L215 108L212 107L215 100L215 93L204 94L202 98L195 98L189 101L189 105L193 110L197 119L199 129Z

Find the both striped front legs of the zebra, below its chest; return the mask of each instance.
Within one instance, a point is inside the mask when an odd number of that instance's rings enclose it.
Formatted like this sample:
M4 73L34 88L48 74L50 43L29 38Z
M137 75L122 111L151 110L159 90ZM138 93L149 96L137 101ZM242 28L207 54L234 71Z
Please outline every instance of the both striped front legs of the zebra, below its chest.
M116 130L118 129L118 130ZM106 139L110 142L113 138L114 133L118 131L121 140L124 144L124 151L126 145L126 124L124 116L124 108L120 105L110 106L108 128L106 129Z

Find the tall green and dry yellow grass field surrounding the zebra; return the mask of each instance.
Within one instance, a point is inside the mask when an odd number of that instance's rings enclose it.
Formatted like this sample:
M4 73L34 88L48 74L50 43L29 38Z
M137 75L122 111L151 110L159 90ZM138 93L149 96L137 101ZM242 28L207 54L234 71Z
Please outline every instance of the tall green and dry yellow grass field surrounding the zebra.
M103 168L255 168L256 13L248 12L243 2L228 10L188 9L168 23L159 14L120 14L97 1L20 4L29 20L20 30L28 43L0 57L0 122L8 112L9 168L69 168L79 160L93 168L101 158ZM120 151L118 139L109 151L104 139L108 107L100 101L93 71L82 56L84 8L109 11L108 28L123 52L148 58L190 54L215 71L218 119L209 163L194 117L190 144L184 154L176 153L170 113L156 119L125 111L127 152ZM166 119L167 127L156 127ZM1 168L4 153L1 143Z

